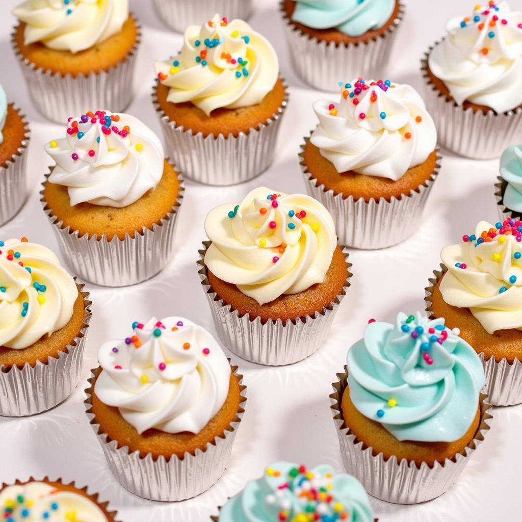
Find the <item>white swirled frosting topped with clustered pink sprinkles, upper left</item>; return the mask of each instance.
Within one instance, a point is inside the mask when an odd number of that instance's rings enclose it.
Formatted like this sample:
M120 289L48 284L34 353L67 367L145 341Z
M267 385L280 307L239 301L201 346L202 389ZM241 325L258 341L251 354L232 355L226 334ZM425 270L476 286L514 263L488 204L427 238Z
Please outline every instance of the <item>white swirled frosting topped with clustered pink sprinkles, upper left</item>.
M49 181L67 187L70 205L126 207L163 175L161 141L129 114L88 111L69 118L65 138L45 151L56 162Z

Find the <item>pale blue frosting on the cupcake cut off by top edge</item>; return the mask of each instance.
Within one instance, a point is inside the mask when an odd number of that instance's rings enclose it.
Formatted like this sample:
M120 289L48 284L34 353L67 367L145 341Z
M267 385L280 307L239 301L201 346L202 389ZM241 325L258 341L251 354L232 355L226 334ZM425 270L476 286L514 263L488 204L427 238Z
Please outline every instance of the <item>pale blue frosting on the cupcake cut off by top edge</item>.
M384 26L395 9L395 0L297 0L292 20L313 29L330 29L351 37Z

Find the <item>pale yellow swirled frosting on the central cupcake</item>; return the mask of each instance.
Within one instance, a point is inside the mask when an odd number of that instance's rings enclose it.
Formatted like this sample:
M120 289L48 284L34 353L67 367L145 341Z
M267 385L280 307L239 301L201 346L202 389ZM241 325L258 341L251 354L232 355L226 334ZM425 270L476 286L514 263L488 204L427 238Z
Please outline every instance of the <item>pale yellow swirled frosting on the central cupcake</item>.
M259 304L322 283L337 246L334 221L317 200L260 187L205 220L207 268Z

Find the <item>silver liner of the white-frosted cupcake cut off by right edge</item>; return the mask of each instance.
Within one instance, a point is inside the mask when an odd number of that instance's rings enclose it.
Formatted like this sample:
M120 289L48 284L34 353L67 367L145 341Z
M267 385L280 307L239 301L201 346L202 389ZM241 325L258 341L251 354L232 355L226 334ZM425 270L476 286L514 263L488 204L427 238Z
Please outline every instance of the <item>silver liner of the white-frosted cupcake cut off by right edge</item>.
M437 45L439 42L435 42ZM522 140L522 107L502 114L492 110L484 114L464 109L446 98L428 75L428 56L421 61L424 100L437 128L438 143L460 156L472 159L499 158L503 150Z

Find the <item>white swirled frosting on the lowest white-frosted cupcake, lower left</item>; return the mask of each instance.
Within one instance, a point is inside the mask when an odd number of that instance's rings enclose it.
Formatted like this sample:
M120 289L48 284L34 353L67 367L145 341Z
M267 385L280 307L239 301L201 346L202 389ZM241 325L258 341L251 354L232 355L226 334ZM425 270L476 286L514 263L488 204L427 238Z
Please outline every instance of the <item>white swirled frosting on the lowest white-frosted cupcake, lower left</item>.
M105 342L94 391L143 433L199 433L227 399L231 368L216 340L183 317L134 323Z

